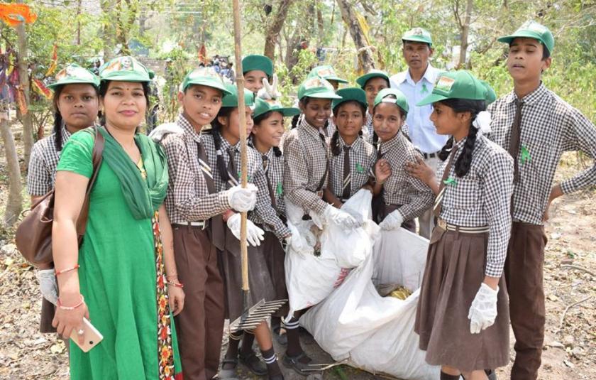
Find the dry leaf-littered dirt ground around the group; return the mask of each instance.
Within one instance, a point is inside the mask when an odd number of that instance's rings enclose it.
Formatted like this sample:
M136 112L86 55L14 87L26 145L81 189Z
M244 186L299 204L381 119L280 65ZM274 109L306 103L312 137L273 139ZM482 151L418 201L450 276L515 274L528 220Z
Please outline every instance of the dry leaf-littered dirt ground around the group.
M0 152L0 210L4 212L8 191L4 146L0 145ZM579 168L575 153L566 154L557 180L570 177ZM546 225L549 240L544 268L547 319L539 379L596 379L595 227L594 188L555 201L551 221ZM41 298L35 273L15 251L12 239L13 229L0 227L0 379L67 379L65 346L55 335L38 332ZM304 348L316 362L333 363L312 337L305 333L303 338ZM513 345L513 335L511 340ZM277 344L276 348L277 352L283 352ZM514 358L513 349L511 357ZM506 379L510 369L511 364L498 369L500 379ZM304 379L283 370L286 379ZM256 379L242 368L238 374L241 379ZM309 378L385 377L342 365Z

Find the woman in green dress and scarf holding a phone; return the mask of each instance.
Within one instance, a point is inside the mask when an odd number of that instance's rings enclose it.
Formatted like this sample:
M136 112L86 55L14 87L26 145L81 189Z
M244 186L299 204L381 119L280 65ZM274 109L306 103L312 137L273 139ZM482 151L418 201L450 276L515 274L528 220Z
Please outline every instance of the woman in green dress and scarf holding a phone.
M87 317L104 340L82 352L71 342L72 379L182 379L171 313L184 306L172 229L162 205L167 164L137 127L148 107L150 72L119 57L100 70L103 161L77 249L76 221L92 176L95 129L73 134L57 166L53 224L60 298L53 325L84 336ZM171 311L171 313L170 313Z

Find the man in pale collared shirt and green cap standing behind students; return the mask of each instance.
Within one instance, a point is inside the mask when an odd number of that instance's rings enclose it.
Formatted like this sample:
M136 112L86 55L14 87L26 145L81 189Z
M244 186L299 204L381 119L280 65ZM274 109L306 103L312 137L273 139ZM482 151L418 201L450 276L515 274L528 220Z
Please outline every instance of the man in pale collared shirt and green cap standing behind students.
M417 107L416 104L433 91L436 77L442 70L432 67L429 62L429 58L433 55L431 33L423 28L414 28L402 36L402 43L402 52L408 70L392 75L390 85L406 95L409 105L406 119L409 137L414 146L422 152L426 165L436 170L438 152L445 145L447 136L436 133L430 119L433 107L431 105ZM418 218L418 222L419 234L429 239L434 228L432 209L426 210L424 215Z

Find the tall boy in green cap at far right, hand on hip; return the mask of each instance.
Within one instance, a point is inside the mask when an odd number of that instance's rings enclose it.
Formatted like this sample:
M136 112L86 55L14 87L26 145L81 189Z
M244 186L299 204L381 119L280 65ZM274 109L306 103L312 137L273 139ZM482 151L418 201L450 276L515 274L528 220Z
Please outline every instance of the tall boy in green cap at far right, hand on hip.
M514 158L512 237L505 276L509 289L516 357L511 378L536 379L544 340L542 267L548 207L561 195L596 183L596 164L552 186L563 151L584 151L596 157L596 129L577 109L547 89L541 81L551 65L554 38L534 21L511 36L507 69L513 91L489 107L492 139Z

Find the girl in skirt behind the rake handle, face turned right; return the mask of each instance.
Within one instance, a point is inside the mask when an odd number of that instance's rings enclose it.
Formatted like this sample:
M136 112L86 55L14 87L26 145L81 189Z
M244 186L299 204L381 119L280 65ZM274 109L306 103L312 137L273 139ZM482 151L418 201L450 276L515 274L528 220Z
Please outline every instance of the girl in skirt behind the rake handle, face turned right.
M223 97L222 107L219 113L211 122L211 133L204 135L207 151L209 152L209 164L214 170L216 188L225 190L238 183L240 178L241 155L240 155L240 124L238 117L238 92L236 87L230 86L231 94ZM245 89L244 99L247 121L247 134L253 127L254 94ZM275 288L272 283L271 273L267 267L265 254L263 253L262 241L265 232L260 227L267 226L267 229L275 234L280 240L289 239L292 235L284 222L272 207L267 176L263 170L263 159L254 148L248 148L248 181L258 188L255 209L250 212L247 220L248 243L248 281L250 283L250 302L248 307L255 305L260 300L270 301L276 299ZM255 215L255 216L253 216ZM257 218L257 219L255 219ZM223 281L226 290L226 317L229 320L236 320L243 313L243 300L241 298L241 254L240 254L240 219L239 213L232 210L223 215L228 228L226 229L226 249L219 256L219 268L223 274ZM260 227L253 222L258 220ZM238 359L250 371L258 376L268 375L270 379L283 379L277 355L273 349L269 326L262 322L253 331L245 331L243 334L233 333L230 336L226 357L219 372L219 379L236 378L236 367ZM238 350L242 337L242 347ZM253 352L253 342L257 340L263 362Z

